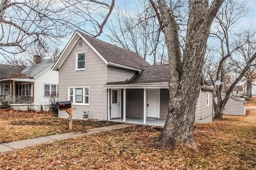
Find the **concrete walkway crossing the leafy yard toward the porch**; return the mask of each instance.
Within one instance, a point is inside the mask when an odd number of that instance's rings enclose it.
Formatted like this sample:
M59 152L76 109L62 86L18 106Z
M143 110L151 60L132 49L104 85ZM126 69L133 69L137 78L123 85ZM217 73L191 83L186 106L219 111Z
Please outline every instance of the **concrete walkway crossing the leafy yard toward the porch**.
M107 132L110 130L117 130L117 129L121 129L121 128L133 127L136 125L137 124L124 123L124 124L113 125L113 126L108 126L108 127L88 129L86 133L68 132L68 133L54 134L54 135L42 136L42 137L38 137L38 138L31 138L31 139L25 139L25 140L18 140L18 141L14 141L14 142L2 143L2 144L0 144L0 153L10 152L12 150L22 149L25 147L35 146L38 144L44 144L44 143L48 143L48 142L54 142L54 141L64 140L64 139L69 139L69 138L75 138L78 136L86 136L86 135L100 133L100 132Z

